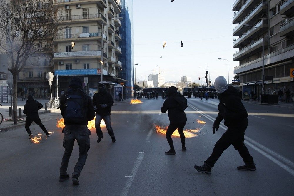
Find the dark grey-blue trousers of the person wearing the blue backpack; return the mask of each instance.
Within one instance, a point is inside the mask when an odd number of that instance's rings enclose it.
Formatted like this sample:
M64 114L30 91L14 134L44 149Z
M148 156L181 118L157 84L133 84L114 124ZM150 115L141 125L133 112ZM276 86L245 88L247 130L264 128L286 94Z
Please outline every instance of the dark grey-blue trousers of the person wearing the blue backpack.
M88 156L88 150L90 149L90 137L87 125L67 125L64 129L63 147L64 154L62 157L60 175L67 174L67 166L69 164L69 158L74 148L74 141L77 140L80 149L78 162L74 167L74 174L80 176L81 171L86 163Z

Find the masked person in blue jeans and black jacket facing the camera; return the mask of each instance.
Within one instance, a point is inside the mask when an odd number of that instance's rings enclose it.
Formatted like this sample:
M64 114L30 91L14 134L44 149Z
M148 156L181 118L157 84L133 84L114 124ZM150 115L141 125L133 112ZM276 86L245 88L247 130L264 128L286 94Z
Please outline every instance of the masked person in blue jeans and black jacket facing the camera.
M105 86L103 84L98 85L98 92L93 96L93 104L96 107L96 120L95 120L95 128L98 136L97 142L101 142L103 138L103 133L100 127L101 120L103 119L106 125L106 129L108 134L111 137L112 142L114 143L115 137L113 133L113 129L110 123L110 111L111 106L113 106L113 98L110 93L106 92Z

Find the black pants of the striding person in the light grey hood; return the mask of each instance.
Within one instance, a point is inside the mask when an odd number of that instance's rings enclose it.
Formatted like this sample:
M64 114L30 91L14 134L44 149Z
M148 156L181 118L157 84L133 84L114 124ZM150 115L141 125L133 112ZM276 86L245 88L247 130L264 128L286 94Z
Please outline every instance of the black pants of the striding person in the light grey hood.
M249 151L244 144L246 128L247 125L240 127L228 127L226 132L216 142L216 145L214 145L213 152L206 160L206 163L213 167L223 151L225 151L231 144L234 146L235 150L238 150L240 156L246 164L254 163L252 156L249 154Z

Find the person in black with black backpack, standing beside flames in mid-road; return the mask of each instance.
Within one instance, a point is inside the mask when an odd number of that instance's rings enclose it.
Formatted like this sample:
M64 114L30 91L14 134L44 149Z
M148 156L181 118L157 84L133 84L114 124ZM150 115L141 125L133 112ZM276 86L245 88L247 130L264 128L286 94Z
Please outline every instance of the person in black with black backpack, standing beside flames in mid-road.
M183 95L179 95L177 92L177 88L171 86L168 88L167 99L164 101L161 112L166 113L168 110L168 118L170 124L168 125L168 129L166 131L166 139L168 141L171 149L166 153L166 155L175 155L176 151L173 147L173 140L171 139L171 135L178 128L181 142L182 142L182 151L186 151L185 146L185 135L184 135L184 126L186 125L187 117L184 110L187 106L187 99Z

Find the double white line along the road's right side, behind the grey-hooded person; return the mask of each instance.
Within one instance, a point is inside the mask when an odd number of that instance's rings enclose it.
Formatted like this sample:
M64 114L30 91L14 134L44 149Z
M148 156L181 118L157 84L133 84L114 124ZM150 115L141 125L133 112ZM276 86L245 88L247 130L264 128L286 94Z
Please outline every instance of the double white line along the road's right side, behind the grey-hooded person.
M193 108L194 110L200 111L198 110L196 107L194 107L193 105L189 104L188 105ZM201 112L201 111L200 111ZM211 120L211 122L214 122L214 119L209 116L206 115L204 113L202 113L203 116L205 116L208 120ZM220 125L221 128L223 129L227 129L223 123L221 123ZM245 136L244 137L246 140L244 141L245 144L249 145L250 147L252 147L254 150L258 151L260 154L264 155L265 157L267 157L268 159L270 159L271 161L273 161L274 163L276 163L277 165L279 165L280 167L282 167L284 170L286 170L287 172L289 172L291 175L294 176L294 170L290 167L288 167L287 165L285 165L284 163L287 163L289 166L294 167L294 163L290 160L288 160L287 158L279 155L278 153L275 153L273 150L270 150L269 148L261 145L260 143L252 140L251 138ZM251 143L250 143L251 142ZM253 143L253 144L252 144ZM259 147L259 148L258 148ZM261 150L260 148L262 148L263 150ZM267 151L267 153L265 152ZM274 158L273 156L275 156L276 158ZM282 163L281 161L283 161L284 163Z

